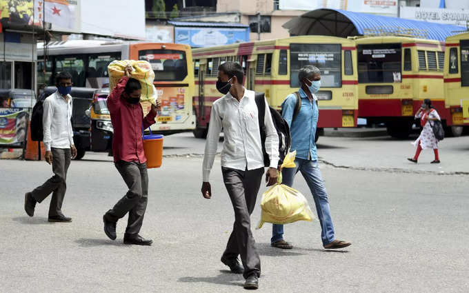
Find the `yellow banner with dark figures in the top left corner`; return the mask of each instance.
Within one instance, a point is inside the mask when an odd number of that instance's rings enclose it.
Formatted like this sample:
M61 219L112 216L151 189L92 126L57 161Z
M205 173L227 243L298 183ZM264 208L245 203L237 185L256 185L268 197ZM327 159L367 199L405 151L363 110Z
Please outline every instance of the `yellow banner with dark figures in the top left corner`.
M33 4L32 0L0 0L0 17L13 24L32 25Z

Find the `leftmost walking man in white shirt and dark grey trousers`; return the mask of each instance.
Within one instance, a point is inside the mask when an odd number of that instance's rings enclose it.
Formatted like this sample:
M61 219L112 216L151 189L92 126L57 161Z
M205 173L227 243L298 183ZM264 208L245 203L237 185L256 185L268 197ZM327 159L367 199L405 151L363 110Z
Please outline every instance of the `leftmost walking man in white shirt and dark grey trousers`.
M70 159L77 156L73 143L72 118L72 76L60 72L55 78L57 92L43 101L43 143L46 147L46 162L52 164L52 176L46 183L26 192L24 209L28 216L34 216L36 203L41 203L52 193L49 207L49 222L71 222L61 208L67 189L66 179Z

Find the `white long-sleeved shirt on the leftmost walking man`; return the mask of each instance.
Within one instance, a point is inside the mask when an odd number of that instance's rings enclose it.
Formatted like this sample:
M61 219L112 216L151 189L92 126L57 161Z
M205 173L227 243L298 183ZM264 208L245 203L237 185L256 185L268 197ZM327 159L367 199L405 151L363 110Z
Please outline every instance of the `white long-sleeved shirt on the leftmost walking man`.
M50 148L70 148L73 145L72 97L68 101L59 92L54 92L43 102L43 134L46 150Z

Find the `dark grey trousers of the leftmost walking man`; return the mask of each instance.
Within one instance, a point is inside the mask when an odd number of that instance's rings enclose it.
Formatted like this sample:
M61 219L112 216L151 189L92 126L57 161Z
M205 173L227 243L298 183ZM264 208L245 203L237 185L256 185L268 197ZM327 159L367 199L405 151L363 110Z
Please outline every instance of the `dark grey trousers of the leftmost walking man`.
M43 185L32 190L32 197L41 203L52 192L50 199L49 216L62 215L63 197L67 190L67 171L70 166L72 152L70 148L51 148L52 152L52 172L54 176L50 177Z

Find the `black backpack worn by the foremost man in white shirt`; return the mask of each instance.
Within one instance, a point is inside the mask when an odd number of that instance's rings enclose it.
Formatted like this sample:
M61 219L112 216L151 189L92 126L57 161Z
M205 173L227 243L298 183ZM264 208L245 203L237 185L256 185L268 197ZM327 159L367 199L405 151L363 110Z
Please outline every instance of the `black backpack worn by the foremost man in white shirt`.
M255 101L257 105L257 111L259 115L259 129L261 132L261 143L262 143L262 153L264 158L264 165L266 167L270 166L270 159L269 155L266 152L266 125L264 124L264 117L266 115L266 99L264 98L264 94L261 92L256 92L255 94ZM274 108L269 106L270 116L272 117L272 121L274 122L275 130L277 130L277 134L279 135L279 162L277 165L281 165L283 159L288 154L288 150L290 150L290 145L292 143L292 138L290 136L290 128L288 127L287 121L281 117L281 114L275 110Z

